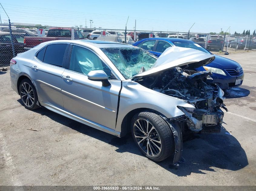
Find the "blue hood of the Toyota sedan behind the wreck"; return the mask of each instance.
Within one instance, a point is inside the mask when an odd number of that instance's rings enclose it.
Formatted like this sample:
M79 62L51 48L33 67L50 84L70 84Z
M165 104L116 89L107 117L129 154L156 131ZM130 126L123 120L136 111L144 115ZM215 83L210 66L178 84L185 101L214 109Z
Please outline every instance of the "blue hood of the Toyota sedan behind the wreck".
M218 55L214 55L215 59L210 62L209 64L207 64L208 67L214 67L214 68L219 68L219 69L223 69L223 68L241 68L241 65L238 64L237 62L218 56Z

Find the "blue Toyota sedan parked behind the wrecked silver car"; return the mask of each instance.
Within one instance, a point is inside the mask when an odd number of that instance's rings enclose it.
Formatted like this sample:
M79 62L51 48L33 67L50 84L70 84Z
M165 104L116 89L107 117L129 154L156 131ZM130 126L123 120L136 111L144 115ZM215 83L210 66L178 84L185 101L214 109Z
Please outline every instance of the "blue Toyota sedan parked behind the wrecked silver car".
M180 38L147 38L134 43L133 46L143 48L157 57L159 57L165 49L171 46L193 48L212 54L197 43ZM241 65L233 60L218 55L214 56L215 59L211 63L206 66L195 68L195 70L212 72L212 81L215 84L218 84L221 89L240 86L244 79L244 72Z

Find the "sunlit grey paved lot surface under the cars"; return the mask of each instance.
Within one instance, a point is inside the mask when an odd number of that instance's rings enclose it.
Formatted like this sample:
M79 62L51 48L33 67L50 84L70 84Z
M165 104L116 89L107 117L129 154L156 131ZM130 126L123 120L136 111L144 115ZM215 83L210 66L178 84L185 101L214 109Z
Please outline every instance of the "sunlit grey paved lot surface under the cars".
M145 158L131 135L117 138L46 109L26 110L9 70L1 71L0 185L256 185L256 53L223 56L243 66L243 84L225 91L221 133L186 141L179 167L171 158Z

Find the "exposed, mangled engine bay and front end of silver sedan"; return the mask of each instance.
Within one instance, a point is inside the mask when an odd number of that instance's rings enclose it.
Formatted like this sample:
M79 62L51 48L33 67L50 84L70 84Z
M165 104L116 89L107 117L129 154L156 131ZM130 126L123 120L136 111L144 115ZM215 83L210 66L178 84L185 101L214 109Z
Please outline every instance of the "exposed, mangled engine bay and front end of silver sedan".
M135 79L139 84L154 91L176 97L194 106L177 106L185 115L174 118L188 130L200 133L220 132L224 92L211 83L211 72L171 68L161 73Z

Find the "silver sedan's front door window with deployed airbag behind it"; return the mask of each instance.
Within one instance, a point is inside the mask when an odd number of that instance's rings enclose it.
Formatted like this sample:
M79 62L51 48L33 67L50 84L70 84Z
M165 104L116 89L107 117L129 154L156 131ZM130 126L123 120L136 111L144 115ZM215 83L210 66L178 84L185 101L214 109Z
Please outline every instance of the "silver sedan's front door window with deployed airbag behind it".
M111 70L91 50L81 46L73 46L69 69L87 75L92 70L103 70L111 77Z

